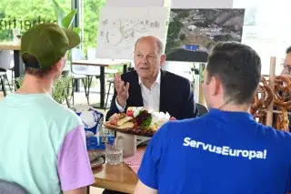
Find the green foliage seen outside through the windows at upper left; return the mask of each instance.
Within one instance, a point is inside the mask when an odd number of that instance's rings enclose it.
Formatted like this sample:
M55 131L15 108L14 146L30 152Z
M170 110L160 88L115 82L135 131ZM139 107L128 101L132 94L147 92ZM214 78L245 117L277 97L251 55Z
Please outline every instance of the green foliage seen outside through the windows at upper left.
M70 13L71 0L55 0L66 14ZM84 1L84 48L96 46L99 10L105 0ZM12 29L17 27L23 34L31 26L43 22L56 22L51 0L1 0L0 41L12 41ZM78 11L78 10L77 10ZM80 21L81 22L81 21ZM82 27L82 24L80 24Z

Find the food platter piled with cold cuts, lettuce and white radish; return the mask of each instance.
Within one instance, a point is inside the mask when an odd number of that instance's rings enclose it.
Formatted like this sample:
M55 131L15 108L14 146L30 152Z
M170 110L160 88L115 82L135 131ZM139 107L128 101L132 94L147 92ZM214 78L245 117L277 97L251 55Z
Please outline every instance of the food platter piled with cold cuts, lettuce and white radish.
M105 128L121 133L153 137L164 123L173 120L168 113L146 107L128 107L126 113L115 113L104 123Z

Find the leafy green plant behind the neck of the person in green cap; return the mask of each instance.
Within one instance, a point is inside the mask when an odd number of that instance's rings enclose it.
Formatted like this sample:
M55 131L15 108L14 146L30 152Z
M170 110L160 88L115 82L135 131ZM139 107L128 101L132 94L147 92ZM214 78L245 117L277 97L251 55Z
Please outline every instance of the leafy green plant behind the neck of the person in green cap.
M65 98L69 97L72 89L71 83L72 83L71 76L65 76L62 75L59 77L59 79L55 82L55 85L53 87L52 91L52 97L55 99L56 102L62 104L65 101ZM24 76L15 78L15 86L21 87L24 82Z

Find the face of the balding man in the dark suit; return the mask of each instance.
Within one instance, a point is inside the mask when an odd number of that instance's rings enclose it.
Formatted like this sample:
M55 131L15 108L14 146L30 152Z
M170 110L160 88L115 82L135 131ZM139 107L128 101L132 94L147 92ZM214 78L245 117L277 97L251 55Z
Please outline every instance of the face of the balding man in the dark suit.
M135 46L135 70L139 77L151 79L157 76L166 56L158 53L156 42L141 39Z

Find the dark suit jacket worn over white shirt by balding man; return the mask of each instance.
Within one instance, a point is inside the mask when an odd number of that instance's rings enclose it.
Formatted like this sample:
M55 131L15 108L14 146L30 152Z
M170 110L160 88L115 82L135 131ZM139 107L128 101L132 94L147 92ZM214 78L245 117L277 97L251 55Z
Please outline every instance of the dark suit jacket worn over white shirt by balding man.
M130 71L121 76L126 83L129 82L129 97L126 100L126 107L144 107L141 87L138 83L136 71ZM115 97L112 97L111 106L106 114L106 120L115 113L119 113L115 105ZM161 70L160 85L160 109L159 111L168 112L176 119L196 117L198 110L194 100L191 84L185 77L177 76L168 71Z

